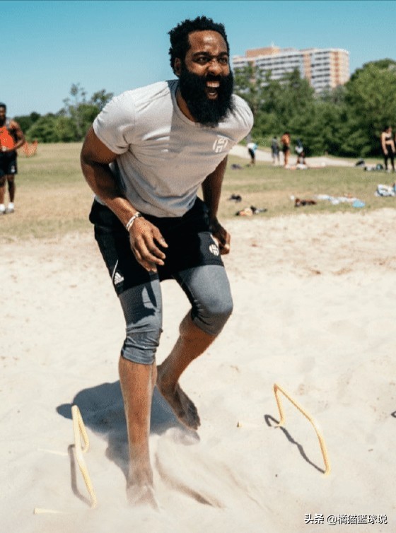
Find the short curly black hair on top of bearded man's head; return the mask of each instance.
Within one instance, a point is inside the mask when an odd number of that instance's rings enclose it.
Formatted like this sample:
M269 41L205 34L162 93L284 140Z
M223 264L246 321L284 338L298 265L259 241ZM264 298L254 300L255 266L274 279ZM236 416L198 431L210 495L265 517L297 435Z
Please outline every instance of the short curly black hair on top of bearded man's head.
M205 16L194 18L194 21L191 21L189 18L187 18L185 21L182 21L181 23L177 24L177 26L173 28L173 30L170 30L170 32L168 32L170 35L170 66L172 67L173 71L175 71L174 65L176 57L184 61L185 55L190 49L188 35L194 31L205 30L220 33L221 37L223 37L223 39L226 41L227 52L228 54L230 53L226 29L224 28L223 24L215 23L214 21L212 21L211 18L207 18Z

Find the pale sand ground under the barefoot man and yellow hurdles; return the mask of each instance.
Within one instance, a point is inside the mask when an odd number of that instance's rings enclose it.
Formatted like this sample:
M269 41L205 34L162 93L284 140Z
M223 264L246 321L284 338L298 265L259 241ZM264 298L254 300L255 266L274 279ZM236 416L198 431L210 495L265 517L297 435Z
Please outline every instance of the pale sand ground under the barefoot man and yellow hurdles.
M158 511L127 504L124 324L93 238L0 244L1 532L395 531L396 211L304 209L228 223L235 310L181 380L197 435L154 394ZM173 281L163 298L158 363L188 309ZM275 427L274 383L320 426L330 475L313 426L284 397ZM74 403L95 509L74 460Z

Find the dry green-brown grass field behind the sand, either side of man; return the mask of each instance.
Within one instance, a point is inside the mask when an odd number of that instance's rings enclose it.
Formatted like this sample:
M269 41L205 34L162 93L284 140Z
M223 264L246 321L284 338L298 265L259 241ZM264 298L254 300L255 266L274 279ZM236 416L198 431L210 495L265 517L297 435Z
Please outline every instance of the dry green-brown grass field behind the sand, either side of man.
M81 144L41 144L31 158L18 158L16 212L1 216L2 240L49 238L72 231L90 231L88 213L93 193L81 174ZM231 169L232 163L242 168ZM332 206L318 201L315 206L295 208L290 197L312 199L316 194L339 197L351 194L365 202L363 210L396 207L396 198L375 197L378 183L392 185L394 175L364 172L361 168L326 167L284 170L269 163L247 166L245 159L230 156L223 183L219 218L231 218L248 206L267 209L257 216L271 217L335 211L361 211L349 204ZM242 201L228 200L240 194ZM6 196L8 203L8 194Z

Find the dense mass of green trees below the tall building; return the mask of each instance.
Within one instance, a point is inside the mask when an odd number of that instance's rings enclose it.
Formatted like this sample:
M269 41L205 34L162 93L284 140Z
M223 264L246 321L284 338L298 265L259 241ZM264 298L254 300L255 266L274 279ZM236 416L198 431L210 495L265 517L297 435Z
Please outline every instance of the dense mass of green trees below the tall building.
M395 125L396 61L371 61L345 86L315 94L295 70L279 81L253 66L235 71L236 92L255 115L252 136L269 143L272 134L290 131L311 154L368 156L380 153L385 124Z

